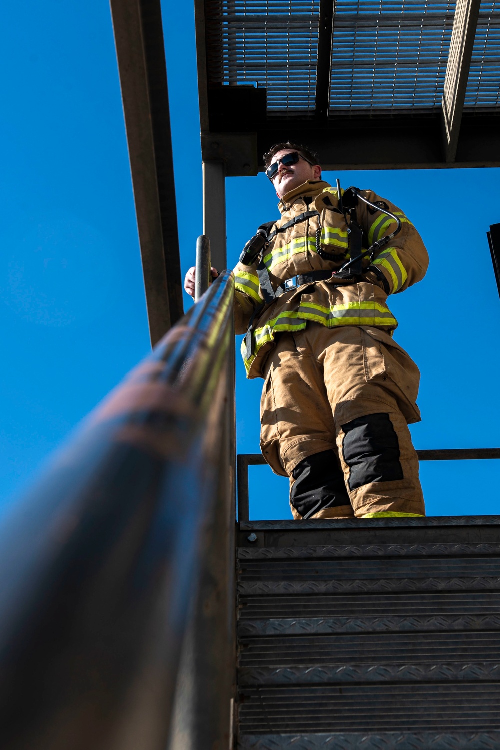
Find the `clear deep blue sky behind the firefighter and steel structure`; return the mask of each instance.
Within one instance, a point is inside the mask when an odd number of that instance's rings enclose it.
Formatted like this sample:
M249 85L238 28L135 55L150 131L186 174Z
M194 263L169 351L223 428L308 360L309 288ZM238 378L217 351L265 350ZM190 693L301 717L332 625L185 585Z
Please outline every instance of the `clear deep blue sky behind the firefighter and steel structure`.
M190 4L162 3L183 272L202 231ZM149 351L109 5L4 4L1 95L0 508ZM286 133L284 133L286 136ZM339 144L339 148L342 145ZM376 148L376 143L374 143ZM394 201L430 251L390 306L422 372L418 448L500 445L500 299L486 232L499 169L335 172ZM228 264L277 215L265 176L228 179ZM251 199L248 213L243 199ZM192 304L186 298L186 308ZM258 452L260 380L237 361L238 450ZM423 462L429 514L499 513L500 461ZM287 480L254 467L251 517L290 517Z

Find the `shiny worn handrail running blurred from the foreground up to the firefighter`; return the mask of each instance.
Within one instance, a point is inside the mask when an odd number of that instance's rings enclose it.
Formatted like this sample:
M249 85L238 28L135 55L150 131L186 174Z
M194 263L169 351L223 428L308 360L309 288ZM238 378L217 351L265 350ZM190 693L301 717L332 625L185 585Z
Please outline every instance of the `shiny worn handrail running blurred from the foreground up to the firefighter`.
M230 747L233 297L224 272L4 520L4 750Z

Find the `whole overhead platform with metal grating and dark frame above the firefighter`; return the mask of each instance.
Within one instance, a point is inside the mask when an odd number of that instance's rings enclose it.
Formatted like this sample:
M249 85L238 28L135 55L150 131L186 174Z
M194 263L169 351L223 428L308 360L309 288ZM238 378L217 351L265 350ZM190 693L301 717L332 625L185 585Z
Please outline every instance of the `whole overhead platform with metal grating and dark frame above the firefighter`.
M228 174L287 138L343 168L500 166L500 0L195 7L202 148Z

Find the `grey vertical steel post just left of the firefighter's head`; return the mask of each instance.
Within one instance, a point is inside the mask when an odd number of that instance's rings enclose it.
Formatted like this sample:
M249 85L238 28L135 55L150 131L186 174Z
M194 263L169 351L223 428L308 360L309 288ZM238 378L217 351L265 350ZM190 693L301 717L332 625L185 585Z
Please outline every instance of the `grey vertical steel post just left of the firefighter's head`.
M210 239L212 265L221 272L228 265L226 240L225 163L203 163L203 233Z

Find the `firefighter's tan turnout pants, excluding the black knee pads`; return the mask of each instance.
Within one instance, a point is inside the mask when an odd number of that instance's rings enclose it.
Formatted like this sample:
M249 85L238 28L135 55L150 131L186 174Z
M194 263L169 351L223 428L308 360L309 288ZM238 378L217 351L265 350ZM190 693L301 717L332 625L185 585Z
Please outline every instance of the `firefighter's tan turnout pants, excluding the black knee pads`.
M288 475L293 487L293 469L306 457L333 449L341 461L350 505L323 508L310 517L425 515L407 424L420 419L415 404L420 374L385 331L308 323L304 331L277 336L264 369L260 446L272 469ZM351 488L353 466L364 458L360 454L353 462L351 456L348 463L344 440L352 421L367 415L394 428L402 478L383 481L382 472L382 481ZM302 518L291 507L293 516Z

